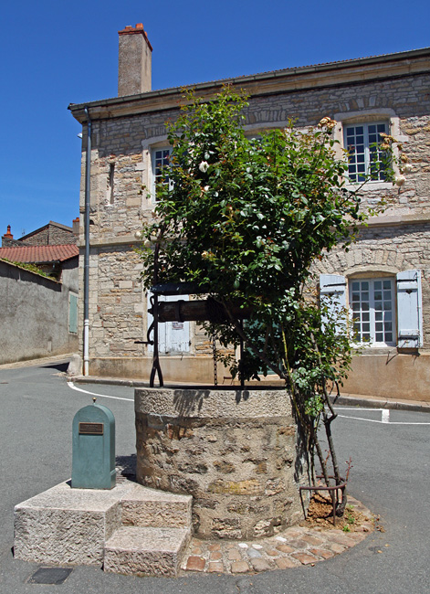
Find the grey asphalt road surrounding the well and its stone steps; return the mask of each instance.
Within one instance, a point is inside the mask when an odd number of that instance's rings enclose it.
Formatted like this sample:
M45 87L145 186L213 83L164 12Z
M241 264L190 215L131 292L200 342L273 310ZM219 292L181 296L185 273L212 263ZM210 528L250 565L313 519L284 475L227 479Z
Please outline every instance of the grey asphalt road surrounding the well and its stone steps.
M74 567L61 585L28 583L37 564L12 555L14 506L71 473L71 422L91 395L68 387L65 366L0 370L0 593L287 594L430 592L430 415L339 408L340 461L352 459L350 492L380 516L384 532L315 567L255 576L132 578ZM82 385L116 419L117 455L134 453L133 388ZM121 399L118 399L121 398Z

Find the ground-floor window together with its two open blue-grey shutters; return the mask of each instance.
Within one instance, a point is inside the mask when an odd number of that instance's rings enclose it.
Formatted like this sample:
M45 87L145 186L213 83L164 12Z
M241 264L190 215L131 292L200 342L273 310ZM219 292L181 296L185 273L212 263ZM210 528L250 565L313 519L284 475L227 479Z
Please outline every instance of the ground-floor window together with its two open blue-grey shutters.
M421 270L348 283L341 274L320 275L320 300L330 313L346 306L347 292L356 342L402 349L423 345Z

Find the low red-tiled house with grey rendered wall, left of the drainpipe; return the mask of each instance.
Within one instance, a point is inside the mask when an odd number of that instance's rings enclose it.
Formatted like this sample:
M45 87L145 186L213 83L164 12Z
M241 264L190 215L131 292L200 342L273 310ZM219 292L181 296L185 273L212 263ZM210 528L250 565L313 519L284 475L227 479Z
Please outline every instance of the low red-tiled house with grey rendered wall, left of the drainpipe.
M51 225L66 228L43 231ZM42 245L21 238L0 248L0 364L78 350L79 248L68 229L68 243L52 245L42 232ZM15 241L10 227L5 238Z

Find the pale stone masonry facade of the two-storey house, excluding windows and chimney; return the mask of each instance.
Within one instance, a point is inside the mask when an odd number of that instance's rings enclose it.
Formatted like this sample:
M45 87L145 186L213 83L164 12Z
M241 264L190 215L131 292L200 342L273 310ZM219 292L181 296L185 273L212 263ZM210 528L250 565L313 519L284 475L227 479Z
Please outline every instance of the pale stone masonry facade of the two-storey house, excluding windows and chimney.
M402 270L421 270L424 327L419 349L405 353L398 345L390 349L373 348L357 367L362 375L362 366L372 356L372 366L379 361L378 376L382 370L387 377L393 374L398 377L395 386L390 386L388 381L390 387L381 388L380 395L387 397L429 398L428 390L423 387L430 374L426 363L430 361L427 358L430 354L429 66L430 49L422 49L195 86L196 93L203 97L212 96L222 83L245 89L249 94L248 133L283 127L290 119L299 128L307 128L328 115L338 122L335 134L341 143L346 124L375 121L386 122L390 133L403 143L404 153L413 165L404 185L372 182L362 190L364 207L374 205L383 196L389 203L386 211L362 229L358 242L348 253L335 250L316 267L317 273L336 273L347 278L351 274L384 276ZM171 89L87 105L92 122L91 374L143 379L149 375L152 355L145 345L134 342L146 339L148 325L146 297L139 282L141 264L134 249L139 245L136 232L152 218L152 151L167 145L165 122L177 117L181 101L184 101L181 90ZM83 125L81 213L85 197L85 107L69 106ZM84 244L83 227L79 243ZM423 371L416 374L418 360ZM190 328L189 351L163 356L162 367L166 379L213 383L210 345L195 324ZM394 368L398 368L395 373ZM220 371L224 377L225 372ZM354 378L352 373L345 389L374 394L376 386L382 385L378 376L361 381L361 377Z

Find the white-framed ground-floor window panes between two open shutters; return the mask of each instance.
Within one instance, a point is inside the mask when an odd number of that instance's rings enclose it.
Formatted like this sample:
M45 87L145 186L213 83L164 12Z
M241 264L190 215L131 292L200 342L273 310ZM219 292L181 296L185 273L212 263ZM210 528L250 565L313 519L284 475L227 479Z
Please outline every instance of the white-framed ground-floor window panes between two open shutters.
M350 281L354 339L357 343L394 345L393 279Z

